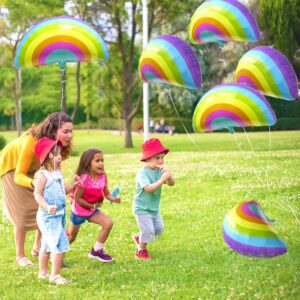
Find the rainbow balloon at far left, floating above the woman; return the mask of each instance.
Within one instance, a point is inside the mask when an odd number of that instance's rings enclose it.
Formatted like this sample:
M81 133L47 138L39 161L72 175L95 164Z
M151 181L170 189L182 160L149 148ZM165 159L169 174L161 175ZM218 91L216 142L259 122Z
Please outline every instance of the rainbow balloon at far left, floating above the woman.
M16 68L66 62L100 61L109 57L100 35L80 19L60 16L34 24L17 46Z

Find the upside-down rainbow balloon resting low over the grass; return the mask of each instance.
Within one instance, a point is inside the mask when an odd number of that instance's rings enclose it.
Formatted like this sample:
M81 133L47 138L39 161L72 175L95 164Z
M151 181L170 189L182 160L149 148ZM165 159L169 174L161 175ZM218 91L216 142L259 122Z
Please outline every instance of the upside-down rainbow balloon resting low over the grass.
M274 257L287 252L285 242L255 201L236 205L225 216L222 232L227 245L242 255Z

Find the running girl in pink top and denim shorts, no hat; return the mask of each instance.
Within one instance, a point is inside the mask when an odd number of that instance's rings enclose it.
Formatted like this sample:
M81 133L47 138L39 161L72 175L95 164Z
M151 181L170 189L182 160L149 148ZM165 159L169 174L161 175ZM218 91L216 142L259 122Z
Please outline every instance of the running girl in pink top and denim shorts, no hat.
M81 155L76 174L80 176L80 184L72 196L72 212L70 216L69 241L74 242L80 225L86 220L102 226L95 246L89 257L102 262L111 262L113 258L103 250L104 243L113 226L112 221L98 207L103 203L104 196L111 202L120 203L119 196L112 197L104 172L104 159L101 150L87 149Z

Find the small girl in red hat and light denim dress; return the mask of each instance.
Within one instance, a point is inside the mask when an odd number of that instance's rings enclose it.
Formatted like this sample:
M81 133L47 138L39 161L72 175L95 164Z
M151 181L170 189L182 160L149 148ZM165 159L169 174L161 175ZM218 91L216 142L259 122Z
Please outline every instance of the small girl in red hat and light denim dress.
M42 232L38 278L49 277L47 268L51 253L52 270L49 282L68 284L70 281L60 275L60 268L64 252L69 250L69 241L65 234L65 196L66 192L74 188L75 181L69 187L64 187L60 171L61 145L58 141L48 137L41 138L35 145L35 154L41 163L41 169L35 174L34 181L34 198L39 204L36 218Z

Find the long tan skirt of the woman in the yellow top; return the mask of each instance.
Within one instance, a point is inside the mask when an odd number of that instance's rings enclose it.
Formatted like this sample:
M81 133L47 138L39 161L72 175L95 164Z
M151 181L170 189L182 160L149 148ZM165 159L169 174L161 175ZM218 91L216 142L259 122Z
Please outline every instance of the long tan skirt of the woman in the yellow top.
M4 215L19 230L37 229L38 204L33 197L33 190L16 184L14 175L15 171L13 170L1 177Z

